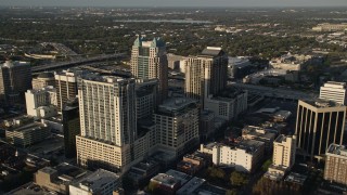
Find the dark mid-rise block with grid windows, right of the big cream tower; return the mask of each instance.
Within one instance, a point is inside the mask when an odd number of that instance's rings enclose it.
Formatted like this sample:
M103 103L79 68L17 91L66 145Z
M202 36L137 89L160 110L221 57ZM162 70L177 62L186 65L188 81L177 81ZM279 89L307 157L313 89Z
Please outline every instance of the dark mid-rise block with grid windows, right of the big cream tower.
M154 114L157 144L181 156L198 144L197 101L185 98L168 99Z

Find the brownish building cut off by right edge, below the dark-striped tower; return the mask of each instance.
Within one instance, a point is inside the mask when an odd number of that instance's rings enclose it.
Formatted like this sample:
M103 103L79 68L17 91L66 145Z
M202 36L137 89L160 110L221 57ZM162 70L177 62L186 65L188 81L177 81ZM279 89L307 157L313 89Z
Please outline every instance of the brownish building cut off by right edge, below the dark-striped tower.
M325 153L324 180L347 185L347 148L331 144Z

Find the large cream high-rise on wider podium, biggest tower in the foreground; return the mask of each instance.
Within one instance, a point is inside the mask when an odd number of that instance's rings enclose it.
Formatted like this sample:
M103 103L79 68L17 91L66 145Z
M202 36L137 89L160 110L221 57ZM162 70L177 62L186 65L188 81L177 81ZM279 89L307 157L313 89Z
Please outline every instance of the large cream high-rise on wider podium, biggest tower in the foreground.
M136 80L85 75L78 79L81 166L125 171L134 160Z

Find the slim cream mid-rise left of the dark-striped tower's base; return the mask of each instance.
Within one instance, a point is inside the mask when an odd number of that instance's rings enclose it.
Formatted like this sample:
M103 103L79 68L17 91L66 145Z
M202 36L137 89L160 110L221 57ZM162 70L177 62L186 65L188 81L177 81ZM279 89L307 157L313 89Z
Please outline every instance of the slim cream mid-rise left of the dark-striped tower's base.
M296 153L295 135L279 135L273 142L272 165L268 173L270 178L281 179L294 166Z

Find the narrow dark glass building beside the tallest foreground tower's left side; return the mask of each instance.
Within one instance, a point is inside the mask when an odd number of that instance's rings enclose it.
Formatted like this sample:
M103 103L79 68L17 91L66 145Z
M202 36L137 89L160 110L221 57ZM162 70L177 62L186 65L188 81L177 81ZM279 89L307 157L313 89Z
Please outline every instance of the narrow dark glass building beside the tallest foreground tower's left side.
M78 100L68 101L63 107L65 157L76 157L76 135L80 134Z

